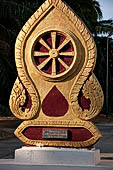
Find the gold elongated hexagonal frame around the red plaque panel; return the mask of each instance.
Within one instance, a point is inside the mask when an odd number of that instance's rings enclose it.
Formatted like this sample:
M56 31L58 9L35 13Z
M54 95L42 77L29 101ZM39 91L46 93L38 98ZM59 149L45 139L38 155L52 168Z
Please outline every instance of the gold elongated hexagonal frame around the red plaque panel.
M22 131L27 128L28 126L45 126L45 127L83 127L88 129L92 134L93 137L86 141L79 141L79 142L71 142L71 141L49 141L49 140L31 140L26 138ZM28 145L39 145L42 144L44 146L65 146L65 147L87 147L91 146L96 143L102 136L99 130L94 126L93 123L87 121L24 121L21 125L15 130L15 135L25 144Z

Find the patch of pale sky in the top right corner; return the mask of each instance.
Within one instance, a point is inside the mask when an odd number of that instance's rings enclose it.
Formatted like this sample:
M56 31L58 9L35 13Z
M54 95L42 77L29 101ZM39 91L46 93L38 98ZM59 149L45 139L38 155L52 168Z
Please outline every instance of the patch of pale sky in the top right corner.
M103 13L103 20L113 17L113 0L97 0Z

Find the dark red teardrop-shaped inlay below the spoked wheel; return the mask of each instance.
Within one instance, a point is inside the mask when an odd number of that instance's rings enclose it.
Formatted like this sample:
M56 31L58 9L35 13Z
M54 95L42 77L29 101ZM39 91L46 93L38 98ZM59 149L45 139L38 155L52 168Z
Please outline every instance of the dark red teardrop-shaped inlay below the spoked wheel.
M42 111L47 116L64 116L68 111L68 102L54 86L42 102Z

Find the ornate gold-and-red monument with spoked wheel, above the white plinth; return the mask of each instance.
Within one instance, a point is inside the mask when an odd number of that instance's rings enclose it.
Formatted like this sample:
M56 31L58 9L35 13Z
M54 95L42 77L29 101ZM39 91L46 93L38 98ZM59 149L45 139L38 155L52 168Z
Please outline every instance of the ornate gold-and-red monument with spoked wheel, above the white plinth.
M101 133L90 121L103 106L93 74L96 45L61 0L46 0L21 29L15 45L18 77L10 108L24 121L15 135L27 145L89 147Z

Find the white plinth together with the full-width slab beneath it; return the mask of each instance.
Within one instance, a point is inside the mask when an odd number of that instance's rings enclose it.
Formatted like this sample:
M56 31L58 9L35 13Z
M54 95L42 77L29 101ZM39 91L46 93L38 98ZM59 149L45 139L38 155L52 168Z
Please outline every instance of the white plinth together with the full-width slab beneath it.
M113 170L113 161L100 160L99 150L22 147L15 159L0 159L0 170Z

